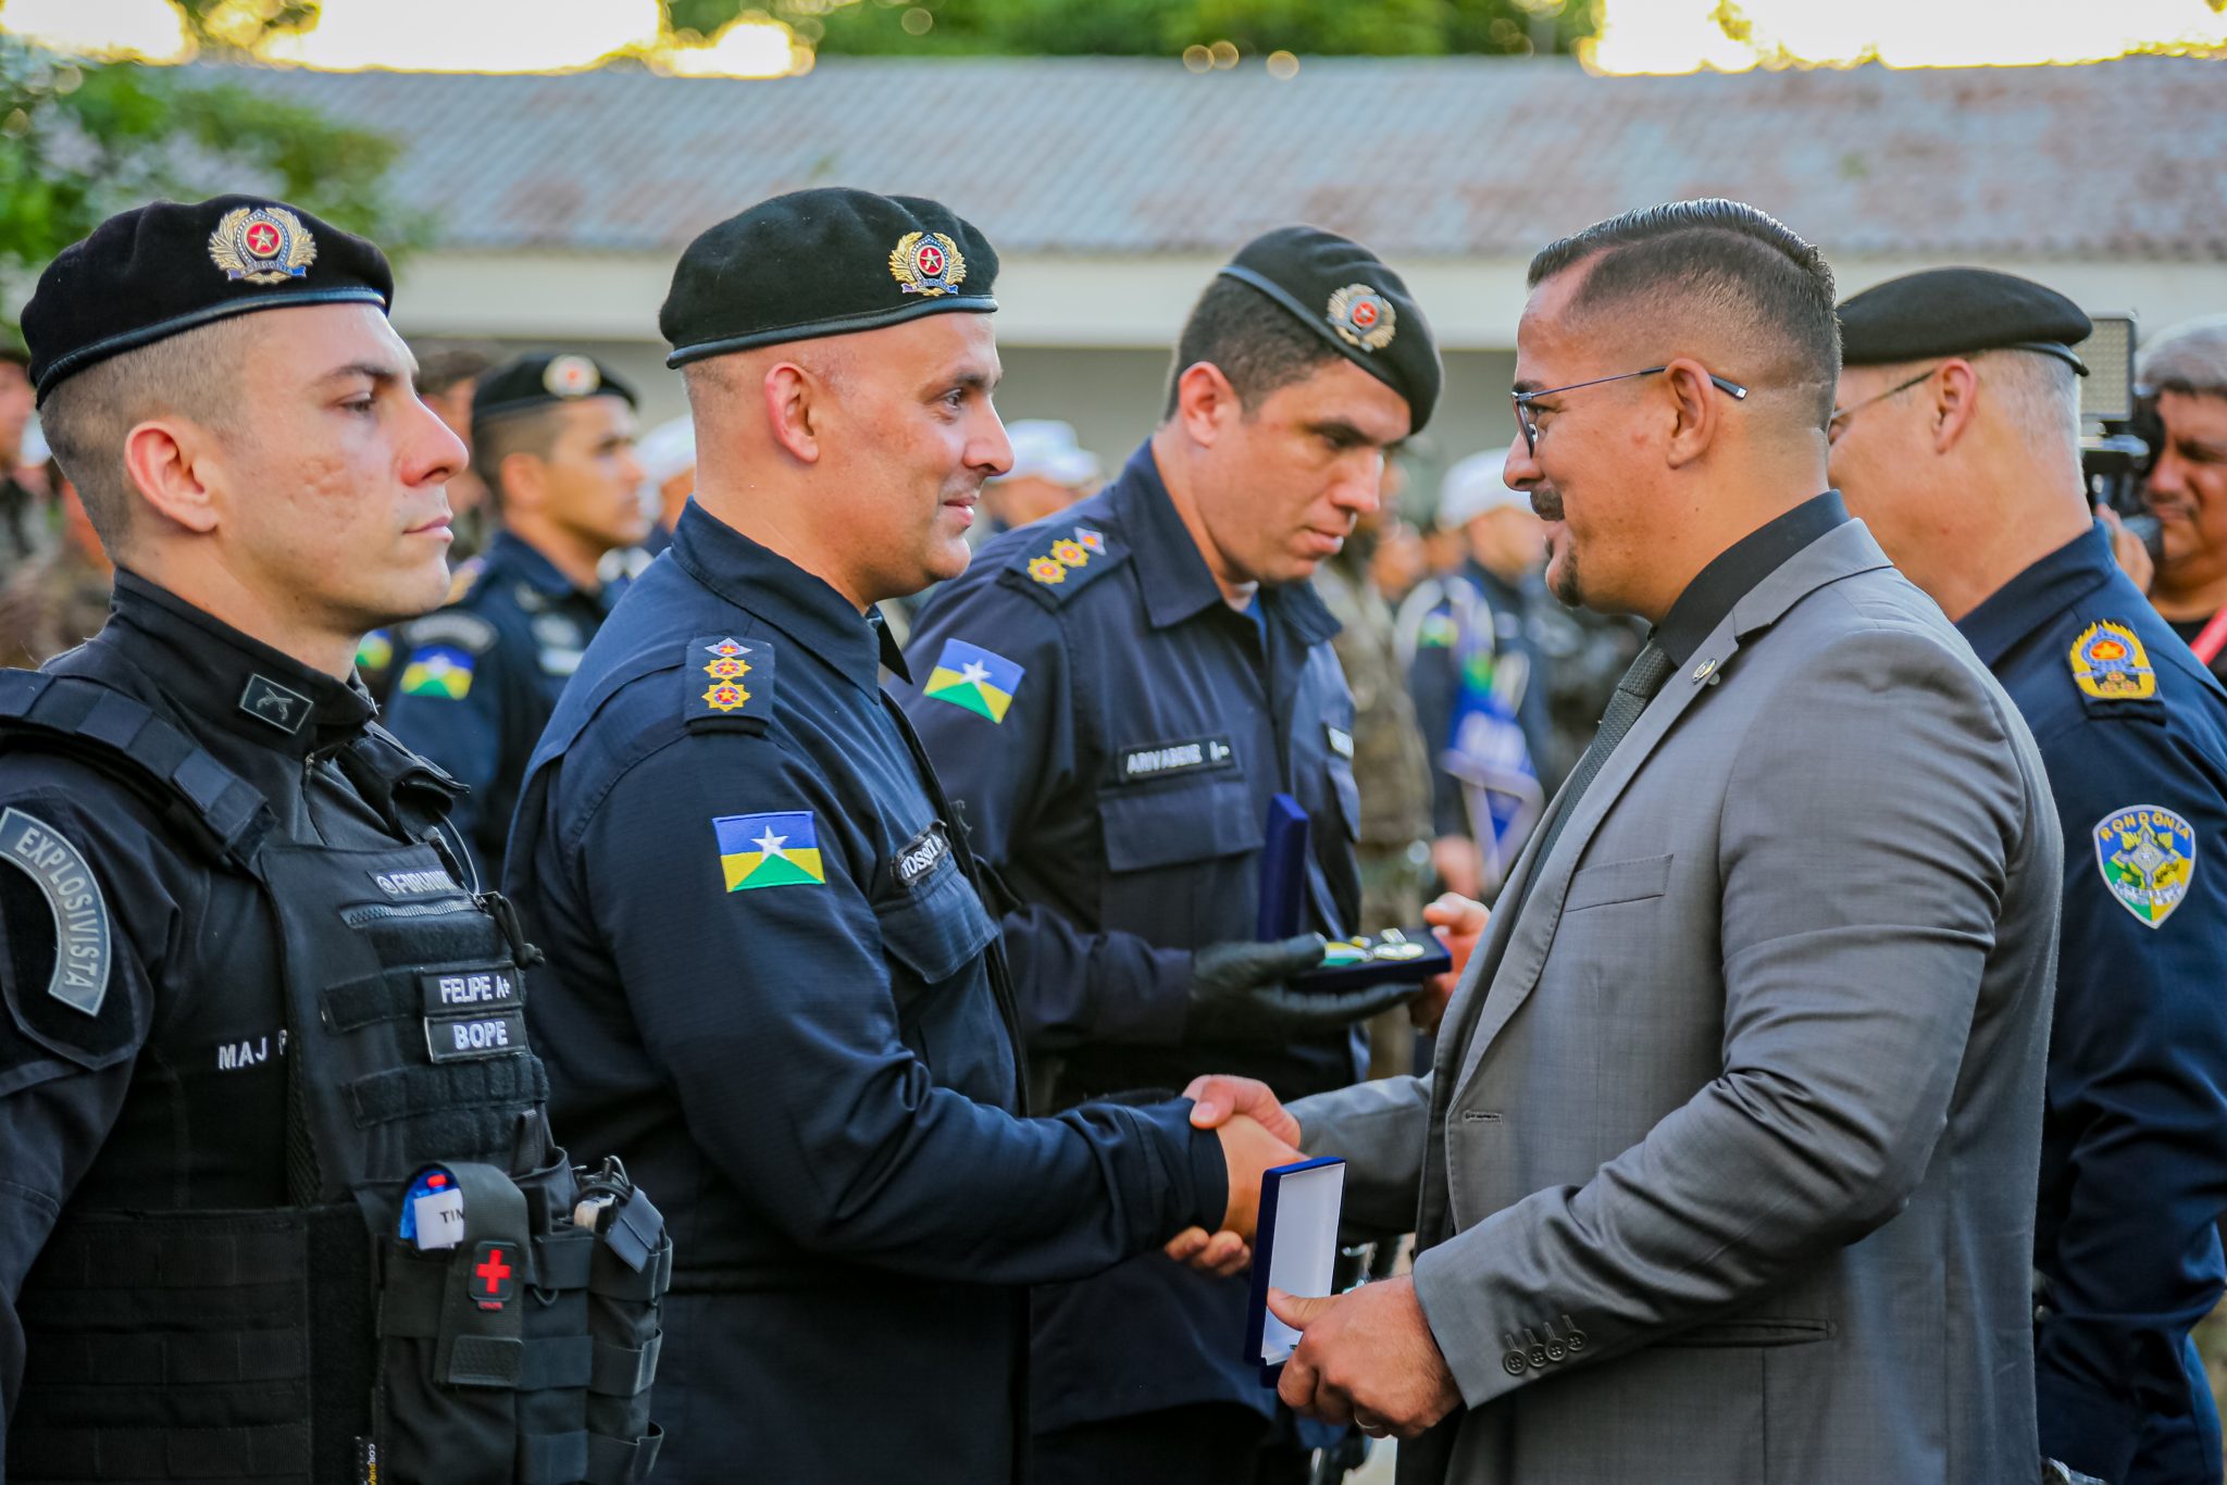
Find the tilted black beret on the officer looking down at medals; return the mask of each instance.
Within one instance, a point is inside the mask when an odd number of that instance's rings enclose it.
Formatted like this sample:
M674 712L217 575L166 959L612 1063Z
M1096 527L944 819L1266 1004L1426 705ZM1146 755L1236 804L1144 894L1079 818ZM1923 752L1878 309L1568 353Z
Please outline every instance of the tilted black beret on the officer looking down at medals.
M1321 227L1278 227L1256 236L1223 267L1323 341L1407 399L1410 432L1423 432L1439 405L1439 343L1399 274L1361 243Z

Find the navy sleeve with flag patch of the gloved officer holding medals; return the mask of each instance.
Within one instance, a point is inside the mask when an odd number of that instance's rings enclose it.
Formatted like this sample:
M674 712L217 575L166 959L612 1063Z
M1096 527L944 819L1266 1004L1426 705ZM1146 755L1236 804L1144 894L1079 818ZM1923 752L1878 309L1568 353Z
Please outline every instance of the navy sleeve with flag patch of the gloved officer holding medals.
M1020 668L1004 701L982 701L980 688L964 681L975 650ZM904 715L964 810L973 853L1002 879L1027 884L1029 859L1044 848L1038 822L1047 806L1093 788L1080 777L1082 677L1067 663L1060 621L995 579L962 579L920 614L906 663L913 688L902 695ZM1134 933L1087 933L1020 895L1002 928L1029 1046L1058 1053L1093 1042L1183 1040L1189 953L1154 948Z

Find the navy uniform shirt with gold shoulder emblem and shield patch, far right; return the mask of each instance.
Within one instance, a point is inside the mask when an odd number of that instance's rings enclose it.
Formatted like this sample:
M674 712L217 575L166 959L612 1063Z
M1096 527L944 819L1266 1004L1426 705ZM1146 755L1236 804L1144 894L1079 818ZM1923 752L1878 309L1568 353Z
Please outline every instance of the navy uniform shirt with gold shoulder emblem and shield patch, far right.
M2189 1327L2227 1211L2227 692L2100 530L1958 623L2033 728L2064 826L2035 1269L2042 1452L2218 1481Z

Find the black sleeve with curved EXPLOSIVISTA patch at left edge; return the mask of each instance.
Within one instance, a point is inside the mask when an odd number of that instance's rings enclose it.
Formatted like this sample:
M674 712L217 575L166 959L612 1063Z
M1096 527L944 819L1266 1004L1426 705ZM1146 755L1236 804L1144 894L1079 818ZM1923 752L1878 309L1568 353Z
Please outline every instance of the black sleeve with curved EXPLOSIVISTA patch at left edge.
M122 1109L154 1022L145 966L185 922L131 808L94 779L62 788L0 806L0 1438L24 1273Z

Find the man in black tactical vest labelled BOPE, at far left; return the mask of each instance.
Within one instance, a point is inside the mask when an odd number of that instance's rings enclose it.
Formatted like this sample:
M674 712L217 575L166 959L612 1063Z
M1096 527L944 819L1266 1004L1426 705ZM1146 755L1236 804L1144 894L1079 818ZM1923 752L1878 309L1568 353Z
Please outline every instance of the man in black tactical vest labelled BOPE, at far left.
M223 196L109 218L22 316L116 608L0 672L18 1485L655 1458L670 1247L617 1167L575 1189L530 951L459 886L454 784L350 679L439 601L463 456L390 294L370 243Z

